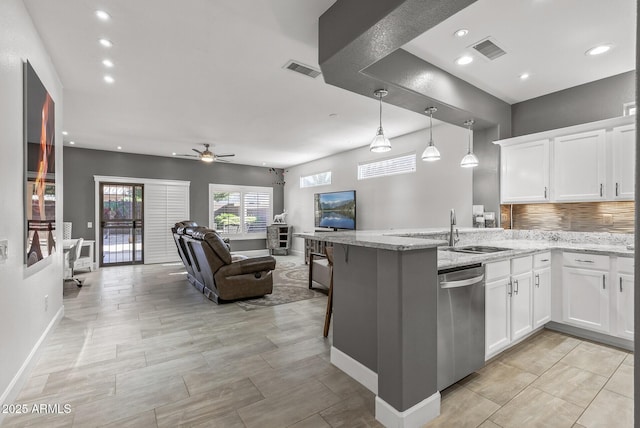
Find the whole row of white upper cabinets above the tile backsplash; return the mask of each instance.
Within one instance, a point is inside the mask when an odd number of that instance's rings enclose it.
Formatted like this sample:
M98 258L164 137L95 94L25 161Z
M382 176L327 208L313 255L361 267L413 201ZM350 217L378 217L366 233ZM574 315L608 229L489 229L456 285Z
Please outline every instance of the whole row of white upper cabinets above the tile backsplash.
M496 141L500 202L634 199L635 124L617 117Z

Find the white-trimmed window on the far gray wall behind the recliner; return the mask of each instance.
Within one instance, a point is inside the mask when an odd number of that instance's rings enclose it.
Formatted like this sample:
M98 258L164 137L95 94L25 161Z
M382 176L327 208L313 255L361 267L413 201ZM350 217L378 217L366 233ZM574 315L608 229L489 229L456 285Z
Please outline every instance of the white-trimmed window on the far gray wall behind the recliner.
M261 239L273 219L273 188L209 184L209 228L234 239Z

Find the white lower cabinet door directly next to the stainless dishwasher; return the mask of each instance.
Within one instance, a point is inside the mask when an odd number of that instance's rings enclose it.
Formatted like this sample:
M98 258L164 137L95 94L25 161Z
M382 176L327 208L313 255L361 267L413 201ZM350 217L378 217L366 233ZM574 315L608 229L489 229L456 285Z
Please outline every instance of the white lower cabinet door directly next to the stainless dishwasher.
M485 359L509 345L509 278L485 284Z

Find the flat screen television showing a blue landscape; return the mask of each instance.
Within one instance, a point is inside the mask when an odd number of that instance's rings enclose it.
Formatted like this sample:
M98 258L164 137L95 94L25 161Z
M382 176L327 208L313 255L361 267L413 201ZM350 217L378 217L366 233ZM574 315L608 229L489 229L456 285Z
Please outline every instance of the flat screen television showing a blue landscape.
M356 191L316 193L315 227L333 230L356 228Z

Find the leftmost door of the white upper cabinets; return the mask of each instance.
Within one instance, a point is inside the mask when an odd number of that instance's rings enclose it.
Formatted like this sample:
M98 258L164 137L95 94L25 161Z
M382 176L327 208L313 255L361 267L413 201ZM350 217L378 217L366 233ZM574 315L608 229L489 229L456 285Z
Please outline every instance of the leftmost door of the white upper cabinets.
M502 147L502 203L549 200L549 140Z

